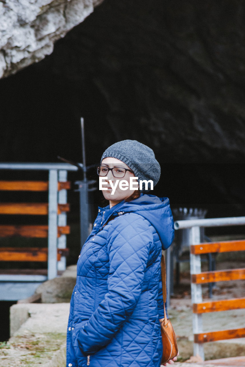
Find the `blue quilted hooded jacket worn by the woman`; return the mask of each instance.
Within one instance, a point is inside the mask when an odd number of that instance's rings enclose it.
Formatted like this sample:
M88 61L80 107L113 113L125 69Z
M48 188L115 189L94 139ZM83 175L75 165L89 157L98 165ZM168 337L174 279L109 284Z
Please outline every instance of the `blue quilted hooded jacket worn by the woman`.
M166 197L99 208L78 259L67 367L160 366L160 261L173 236Z

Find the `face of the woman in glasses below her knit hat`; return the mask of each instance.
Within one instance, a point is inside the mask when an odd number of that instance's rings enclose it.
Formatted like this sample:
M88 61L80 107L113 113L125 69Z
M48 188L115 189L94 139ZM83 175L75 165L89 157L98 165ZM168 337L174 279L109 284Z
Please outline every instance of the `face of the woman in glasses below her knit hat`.
M103 159L102 162L101 162L101 165L109 167L109 168L121 167L121 168L130 169L127 166L127 164L123 163L119 159L112 158L112 157L107 157L107 158ZM113 207L114 205L120 203L120 201L122 201L124 199L127 199L127 197L131 196L132 193L135 191L135 188L133 190L130 190L130 186L129 186L130 177L135 177L135 175L132 172L126 171L124 177L117 178L117 177L113 176L112 171L108 171L106 177L107 177L107 179L105 179L105 177L103 179L103 182L104 182L103 183L103 188L108 188L108 189L107 190L102 190L102 193L103 193L105 199L109 200L110 208ZM112 193L112 186L110 185L109 180L112 181L113 186L115 186L116 181L118 181L116 189L114 190L114 193ZM123 181L123 180L128 182L128 188L126 190L122 190L119 187L120 181ZM133 185L134 185L134 187L137 187L137 181L134 181Z

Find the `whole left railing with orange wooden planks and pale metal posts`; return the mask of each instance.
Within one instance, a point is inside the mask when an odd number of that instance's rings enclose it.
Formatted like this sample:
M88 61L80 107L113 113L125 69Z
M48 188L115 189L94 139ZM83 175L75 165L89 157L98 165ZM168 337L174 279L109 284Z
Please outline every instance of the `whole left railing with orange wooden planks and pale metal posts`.
M68 255L66 248L66 235L70 232L67 225L67 212L70 210L67 203L67 190L71 183L67 181L67 171L76 171L78 168L64 163L0 163L3 170L45 170L48 171L48 181L0 181L0 191L7 192L8 197L13 191L19 192L46 192L46 202L1 202L0 216L33 215L37 216L37 224L18 225L11 223L0 225L0 237L13 237L11 247L0 247L0 261L14 262L47 262L45 271L23 269L19 273L11 269L0 271L0 299L18 300L27 298L40 282L57 276L59 270L66 267L65 257ZM33 173L34 175L34 173ZM39 225L39 216L46 216L47 224ZM29 217L27 217L29 218ZM14 237L47 238L46 247L16 247ZM13 243L13 246L12 246ZM4 264L4 263L3 263ZM45 269L44 269L45 270ZM15 294L13 294L15 293Z

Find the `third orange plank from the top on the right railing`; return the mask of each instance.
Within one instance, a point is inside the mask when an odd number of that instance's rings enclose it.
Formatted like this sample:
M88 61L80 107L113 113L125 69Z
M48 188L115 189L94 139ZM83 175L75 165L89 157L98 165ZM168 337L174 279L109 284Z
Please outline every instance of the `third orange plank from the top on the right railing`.
M193 313L207 313L245 308L245 298L232 298L212 302L194 303Z

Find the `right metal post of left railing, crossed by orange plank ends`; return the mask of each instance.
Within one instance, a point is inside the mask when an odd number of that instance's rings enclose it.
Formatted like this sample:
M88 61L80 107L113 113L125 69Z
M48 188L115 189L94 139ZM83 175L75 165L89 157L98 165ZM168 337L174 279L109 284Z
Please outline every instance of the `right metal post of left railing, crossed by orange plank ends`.
M67 181L67 171L60 170L58 175L60 182ZM58 203L66 204L67 203L67 190L63 189L58 192ZM58 215L58 226L66 226L67 225L67 214L63 212ZM58 248L66 248L66 235L61 235L58 237ZM60 261L58 261L57 269L65 270L66 268L66 258L65 256L61 256Z

